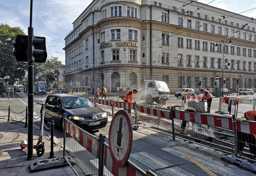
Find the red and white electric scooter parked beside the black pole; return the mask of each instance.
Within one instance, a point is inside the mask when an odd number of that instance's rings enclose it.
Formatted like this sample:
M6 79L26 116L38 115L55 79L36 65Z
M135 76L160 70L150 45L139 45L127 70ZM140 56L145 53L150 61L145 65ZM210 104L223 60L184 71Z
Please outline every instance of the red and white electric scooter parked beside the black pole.
M36 143L36 145L33 145L33 148L36 149L36 154L37 156L42 156L44 154L44 142L43 142L43 136L44 136L44 108L45 108L45 104L44 103L37 103L40 105L43 105L43 111L41 114L41 127L40 127L40 135L39 135L39 139L38 142ZM28 142L26 140L22 140L21 144L20 144L20 148L23 150L24 148L28 148Z

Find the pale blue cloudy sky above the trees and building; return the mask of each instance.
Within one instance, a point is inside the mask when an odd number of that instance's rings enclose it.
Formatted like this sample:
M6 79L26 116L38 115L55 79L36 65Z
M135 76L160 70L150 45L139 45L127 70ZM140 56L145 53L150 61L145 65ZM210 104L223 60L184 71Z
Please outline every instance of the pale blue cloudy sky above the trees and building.
M65 64L64 38L73 29L72 23L91 2L92 0L33 1L34 35L46 38L48 56L58 57L62 64ZM198 0L198 2L210 3L208 5L238 14L244 12L241 15L256 18L255 0ZM0 3L0 24L18 26L28 35L30 0L0 0Z

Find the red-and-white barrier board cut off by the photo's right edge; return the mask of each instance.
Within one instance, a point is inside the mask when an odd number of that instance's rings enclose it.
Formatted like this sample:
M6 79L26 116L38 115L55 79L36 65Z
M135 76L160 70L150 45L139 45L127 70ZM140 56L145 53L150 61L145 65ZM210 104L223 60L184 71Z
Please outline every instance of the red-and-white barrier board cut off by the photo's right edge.
M254 121L237 121L236 130L240 132L245 132L248 134L256 135L256 122Z

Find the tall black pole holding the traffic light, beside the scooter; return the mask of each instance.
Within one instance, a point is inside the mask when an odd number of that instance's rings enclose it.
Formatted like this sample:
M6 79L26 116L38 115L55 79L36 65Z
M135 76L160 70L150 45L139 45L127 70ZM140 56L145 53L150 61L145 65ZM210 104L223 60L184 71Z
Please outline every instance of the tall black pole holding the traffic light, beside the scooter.
M32 9L33 0L30 0L30 22L28 27L28 156L27 160L33 160L33 113L34 113L34 66L32 60Z

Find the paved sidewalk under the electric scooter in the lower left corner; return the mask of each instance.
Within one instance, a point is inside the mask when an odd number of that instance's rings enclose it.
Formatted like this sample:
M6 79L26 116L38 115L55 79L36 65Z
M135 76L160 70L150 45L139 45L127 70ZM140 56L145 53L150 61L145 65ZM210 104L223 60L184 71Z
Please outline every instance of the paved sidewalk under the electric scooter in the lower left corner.
M1 113L0 113L1 114ZM70 166L62 168L53 168L39 172L30 172L30 163L36 163L37 160L48 160L50 156L50 132L44 131L46 137L43 137L45 152L43 156L38 157L36 150L33 149L34 160L27 160L27 150L20 148L21 140L28 140L28 128L24 128L24 123L0 119L0 175L1 176L76 176ZM34 144L38 141L40 127L33 127ZM63 156L61 141L54 137L54 156ZM63 143L63 141L62 141Z

